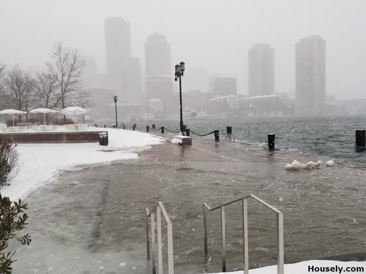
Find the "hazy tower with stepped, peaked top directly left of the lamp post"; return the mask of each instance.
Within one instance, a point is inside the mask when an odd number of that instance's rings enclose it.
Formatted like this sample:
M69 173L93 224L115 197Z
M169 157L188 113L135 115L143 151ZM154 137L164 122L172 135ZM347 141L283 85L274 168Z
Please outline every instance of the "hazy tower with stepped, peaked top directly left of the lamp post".
M172 74L170 43L160 33L147 37L145 43L146 77Z

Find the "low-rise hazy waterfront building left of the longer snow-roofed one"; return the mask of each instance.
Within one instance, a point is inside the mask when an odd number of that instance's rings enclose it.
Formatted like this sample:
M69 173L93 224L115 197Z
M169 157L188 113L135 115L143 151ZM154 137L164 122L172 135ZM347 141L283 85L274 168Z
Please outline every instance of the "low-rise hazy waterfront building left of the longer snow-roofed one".
M208 100L207 114L213 118L241 117L239 100L235 95L216 97Z

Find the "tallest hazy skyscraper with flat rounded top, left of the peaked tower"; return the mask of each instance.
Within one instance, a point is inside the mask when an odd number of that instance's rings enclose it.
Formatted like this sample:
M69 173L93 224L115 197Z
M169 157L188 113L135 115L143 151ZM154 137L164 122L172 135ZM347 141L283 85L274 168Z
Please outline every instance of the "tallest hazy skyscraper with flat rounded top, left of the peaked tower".
M124 63L131 58L130 22L112 17L104 21L107 87L126 101Z

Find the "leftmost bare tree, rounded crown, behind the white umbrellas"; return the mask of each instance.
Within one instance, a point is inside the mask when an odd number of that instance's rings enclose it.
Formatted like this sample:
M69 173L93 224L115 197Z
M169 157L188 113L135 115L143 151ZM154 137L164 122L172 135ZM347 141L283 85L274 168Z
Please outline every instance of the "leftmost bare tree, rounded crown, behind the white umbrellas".
M10 68L4 80L5 100L10 108L28 112L34 105L35 81L30 71L25 71L19 65ZM19 119L21 115L18 115ZM28 121L28 115L26 115Z

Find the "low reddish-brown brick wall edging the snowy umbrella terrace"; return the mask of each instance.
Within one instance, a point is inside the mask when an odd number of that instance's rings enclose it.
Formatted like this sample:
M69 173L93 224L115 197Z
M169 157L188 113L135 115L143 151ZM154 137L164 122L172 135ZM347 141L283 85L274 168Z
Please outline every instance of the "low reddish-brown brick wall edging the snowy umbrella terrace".
M98 134L102 132L3 132L0 139L10 139L13 143L92 143L99 142Z

